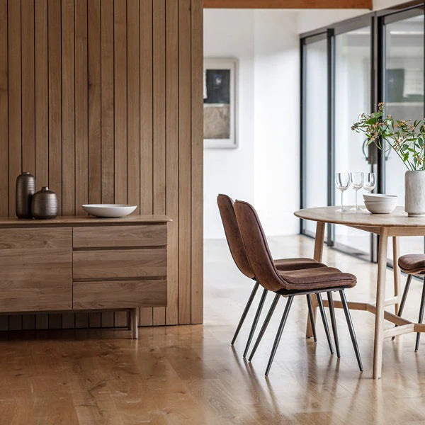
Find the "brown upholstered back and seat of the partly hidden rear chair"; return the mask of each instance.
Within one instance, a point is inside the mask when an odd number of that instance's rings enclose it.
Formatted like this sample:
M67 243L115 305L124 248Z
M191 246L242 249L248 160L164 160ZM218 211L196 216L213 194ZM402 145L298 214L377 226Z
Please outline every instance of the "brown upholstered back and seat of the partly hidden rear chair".
M244 248L244 242L237 225L236 215L234 215L233 200L227 195L217 196L218 209L222 219L227 244L233 260L242 273L249 278L254 278L254 272L249 264ZM295 258L274 260L276 268L279 270L297 270L299 268L324 267L324 264L318 263L313 259Z

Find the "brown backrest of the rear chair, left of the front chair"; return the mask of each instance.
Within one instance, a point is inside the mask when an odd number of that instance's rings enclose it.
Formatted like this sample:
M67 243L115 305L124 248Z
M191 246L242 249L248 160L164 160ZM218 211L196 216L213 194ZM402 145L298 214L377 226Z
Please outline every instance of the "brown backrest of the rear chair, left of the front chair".
M252 279L254 278L254 272L246 257L244 242L242 241L241 232L239 232L236 215L234 215L233 200L227 195L220 194L217 196L217 204L220 210L223 227L225 228L227 244L229 245L230 254L232 254L234 263L236 263L237 268L239 268L245 276Z

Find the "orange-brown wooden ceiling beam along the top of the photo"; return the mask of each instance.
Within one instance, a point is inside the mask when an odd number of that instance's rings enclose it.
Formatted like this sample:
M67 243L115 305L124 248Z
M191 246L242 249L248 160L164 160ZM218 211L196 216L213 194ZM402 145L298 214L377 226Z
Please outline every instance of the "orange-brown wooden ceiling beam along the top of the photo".
M204 0L204 8L362 8L372 0Z

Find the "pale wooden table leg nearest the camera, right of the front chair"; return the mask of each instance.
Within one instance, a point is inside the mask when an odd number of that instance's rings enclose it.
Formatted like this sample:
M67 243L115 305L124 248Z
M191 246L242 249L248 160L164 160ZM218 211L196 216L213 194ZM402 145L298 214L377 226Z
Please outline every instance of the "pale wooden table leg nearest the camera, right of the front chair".
M373 379L381 377L384 343L385 273L387 271L388 232L380 229L378 253L378 282L376 289L375 343L373 349Z

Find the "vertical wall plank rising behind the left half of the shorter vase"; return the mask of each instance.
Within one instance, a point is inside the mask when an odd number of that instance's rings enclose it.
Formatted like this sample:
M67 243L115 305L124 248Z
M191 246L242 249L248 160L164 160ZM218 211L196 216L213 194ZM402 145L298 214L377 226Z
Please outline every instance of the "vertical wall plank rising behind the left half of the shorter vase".
M49 80L47 68L47 0L36 0L35 15L35 179L49 184ZM37 322L36 322L37 323Z

